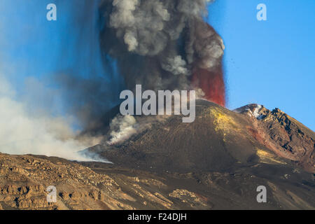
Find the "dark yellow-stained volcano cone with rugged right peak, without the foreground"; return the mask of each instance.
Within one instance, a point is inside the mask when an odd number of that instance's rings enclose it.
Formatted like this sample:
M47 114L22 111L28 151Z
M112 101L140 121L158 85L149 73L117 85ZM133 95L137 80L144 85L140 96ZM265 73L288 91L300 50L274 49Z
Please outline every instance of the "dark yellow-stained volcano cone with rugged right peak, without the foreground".
M314 172L314 139L314 132L279 109L251 104L230 111L199 100L194 123L169 116L125 142L97 145L85 153L97 153L116 165L157 171L220 172L265 161Z

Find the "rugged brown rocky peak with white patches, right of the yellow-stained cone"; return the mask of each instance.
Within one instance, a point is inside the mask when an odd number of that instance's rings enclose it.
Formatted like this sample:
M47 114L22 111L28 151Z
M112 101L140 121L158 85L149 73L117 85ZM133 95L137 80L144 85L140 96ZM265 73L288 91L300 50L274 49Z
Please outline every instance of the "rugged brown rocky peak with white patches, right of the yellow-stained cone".
M251 104L236 109L246 114L253 137L282 158L293 160L309 172L315 172L315 133L279 109L269 111Z

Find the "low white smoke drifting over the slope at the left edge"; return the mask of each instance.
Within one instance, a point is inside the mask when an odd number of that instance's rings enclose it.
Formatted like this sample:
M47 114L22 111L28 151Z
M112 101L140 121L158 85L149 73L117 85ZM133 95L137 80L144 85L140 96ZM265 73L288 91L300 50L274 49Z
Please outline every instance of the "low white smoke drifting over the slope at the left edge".
M41 87L32 86L33 89ZM77 139L66 117L34 113L34 102L18 101L16 92L0 75L0 152L35 154L87 161L77 152L98 144L98 139ZM20 97L19 97L20 98ZM25 97L27 99L29 97ZM32 111L32 113L29 113Z

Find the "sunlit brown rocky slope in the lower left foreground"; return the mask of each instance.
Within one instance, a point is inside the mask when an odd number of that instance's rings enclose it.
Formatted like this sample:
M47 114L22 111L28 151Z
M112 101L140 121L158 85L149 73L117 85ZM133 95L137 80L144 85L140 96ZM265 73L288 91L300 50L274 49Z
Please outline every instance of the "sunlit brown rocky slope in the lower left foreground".
M60 158L0 154L1 209L207 209L202 197L186 189L167 190L152 174L111 169L99 174ZM57 188L48 203L46 188Z

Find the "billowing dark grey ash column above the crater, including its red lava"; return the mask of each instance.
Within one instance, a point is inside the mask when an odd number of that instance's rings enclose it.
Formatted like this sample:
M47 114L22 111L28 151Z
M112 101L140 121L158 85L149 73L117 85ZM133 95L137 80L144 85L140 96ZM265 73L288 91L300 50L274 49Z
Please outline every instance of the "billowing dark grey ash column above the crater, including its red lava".
M200 90L225 106L224 45L204 22L209 0L103 0L102 50L117 60L126 87ZM201 91L202 90L202 91Z

